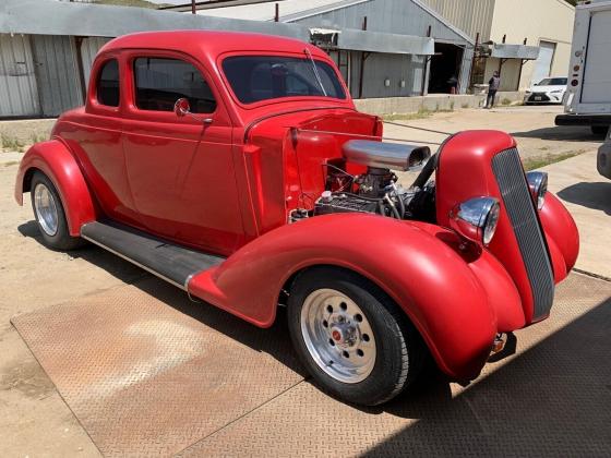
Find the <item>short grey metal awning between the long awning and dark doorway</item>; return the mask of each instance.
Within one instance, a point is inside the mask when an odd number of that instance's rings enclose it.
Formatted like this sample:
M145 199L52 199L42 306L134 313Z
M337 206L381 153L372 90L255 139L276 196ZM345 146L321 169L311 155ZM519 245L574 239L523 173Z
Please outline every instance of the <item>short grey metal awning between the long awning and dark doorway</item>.
M435 53L435 41L428 37L344 28L337 36L337 48L394 55L432 56Z

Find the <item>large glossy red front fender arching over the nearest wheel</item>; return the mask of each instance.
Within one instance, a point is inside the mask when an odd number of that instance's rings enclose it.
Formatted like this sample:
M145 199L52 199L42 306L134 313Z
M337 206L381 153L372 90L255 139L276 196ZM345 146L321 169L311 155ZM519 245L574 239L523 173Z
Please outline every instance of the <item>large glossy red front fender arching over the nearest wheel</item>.
M313 265L348 268L382 288L451 376L472 378L481 370L498 330L487 288L478 279L486 273L471 270L448 244L409 221L342 214L283 226L196 275L188 289L265 327L275 318L285 282ZM508 294L517 296L512 288Z

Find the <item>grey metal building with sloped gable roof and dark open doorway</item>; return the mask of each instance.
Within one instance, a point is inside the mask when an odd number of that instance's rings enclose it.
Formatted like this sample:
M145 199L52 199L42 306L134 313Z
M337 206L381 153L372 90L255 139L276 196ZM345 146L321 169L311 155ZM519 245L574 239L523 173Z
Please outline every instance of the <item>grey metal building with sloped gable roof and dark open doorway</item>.
M218 3L221 3L220 5ZM466 33L420 0L280 0L232 5L235 2L201 2L197 14L255 21L278 21L309 28L366 29L371 39L363 51L360 41L339 41L328 49L342 69L352 97L402 97L427 93L450 93L453 86L465 93L475 41ZM190 12L191 4L167 9ZM392 49L376 33L431 37L434 55ZM453 81L456 81L454 84Z

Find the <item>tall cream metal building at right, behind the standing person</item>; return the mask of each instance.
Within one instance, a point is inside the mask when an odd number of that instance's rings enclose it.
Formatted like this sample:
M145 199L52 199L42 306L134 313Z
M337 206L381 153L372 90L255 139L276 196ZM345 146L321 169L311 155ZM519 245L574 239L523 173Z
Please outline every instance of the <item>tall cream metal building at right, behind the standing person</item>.
M471 84L501 72L501 89L566 76L575 8L565 0L422 0L478 43Z

